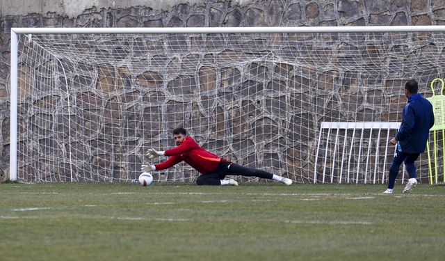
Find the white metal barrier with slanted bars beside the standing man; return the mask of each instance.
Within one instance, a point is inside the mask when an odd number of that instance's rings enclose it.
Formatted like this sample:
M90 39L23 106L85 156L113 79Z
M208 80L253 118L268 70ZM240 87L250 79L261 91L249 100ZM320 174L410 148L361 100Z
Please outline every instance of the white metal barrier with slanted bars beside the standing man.
M321 182L334 183L334 177L337 177L339 183L342 180L349 183L351 175L355 173L355 177L353 177L355 183L359 183L359 180L364 183L369 180L374 184L381 180L384 183L388 153L391 153L392 157L396 152L396 146L390 145L389 139L395 136L400 125L401 122L321 122L314 164L314 183L318 182L319 178L318 153L323 149ZM365 132L369 132L368 136L365 136ZM386 132L383 137L382 132ZM391 132L393 134L390 136ZM363 148L366 149L365 153L362 153ZM382 148L385 148L384 155L379 155ZM358 153L355 153L356 150ZM373 163L370 161L371 156L375 157ZM379 161L380 156L383 158L382 163ZM366 162L362 166L364 157L366 157ZM355 166L351 166L351 162L354 160L357 162ZM374 166L370 170L369 167L372 164ZM330 166L330 173L327 173L327 166ZM382 172L379 172L379 166L382 166ZM364 174L361 174L360 171L364 171ZM381 179L378 178L380 173ZM403 180L404 176L405 166L403 166ZM330 180L326 181L326 178Z

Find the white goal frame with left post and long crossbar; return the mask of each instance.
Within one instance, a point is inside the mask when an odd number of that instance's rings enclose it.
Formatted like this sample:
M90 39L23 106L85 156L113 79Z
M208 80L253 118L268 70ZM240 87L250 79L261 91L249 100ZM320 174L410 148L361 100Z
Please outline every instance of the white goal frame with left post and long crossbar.
M300 27L161 27L161 28L17 28L10 31L10 168L9 180L17 180L17 75L20 34L106 33L387 33L445 32L445 26L300 26Z

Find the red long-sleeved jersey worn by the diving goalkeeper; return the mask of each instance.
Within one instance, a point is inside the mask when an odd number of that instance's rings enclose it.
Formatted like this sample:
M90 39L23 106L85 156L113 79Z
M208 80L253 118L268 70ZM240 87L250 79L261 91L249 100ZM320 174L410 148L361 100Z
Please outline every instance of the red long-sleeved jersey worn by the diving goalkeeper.
M187 136L181 145L165 150L165 156L170 157L166 161L154 164L156 171L170 168L181 161L186 161L195 170L205 174L215 171L220 161L227 161L201 148L191 136Z

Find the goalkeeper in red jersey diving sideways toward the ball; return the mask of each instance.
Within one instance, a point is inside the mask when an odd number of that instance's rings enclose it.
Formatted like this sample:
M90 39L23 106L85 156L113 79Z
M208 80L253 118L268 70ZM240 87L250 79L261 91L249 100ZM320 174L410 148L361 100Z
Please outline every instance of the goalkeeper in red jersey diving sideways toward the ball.
M177 147L165 151L147 150L149 159L159 156L169 156L166 161L154 165L142 165L141 171L161 171L170 168L181 161L186 161L195 170L201 173L197 178L198 185L232 185L238 186L236 180L225 180L226 175L243 175L248 177L261 177L269 180L276 180L286 185L291 185L292 180L286 177L280 177L266 171L254 168L246 168L238 164L221 159L207 150L204 150L196 141L187 135L186 129L177 128L173 130L173 139Z

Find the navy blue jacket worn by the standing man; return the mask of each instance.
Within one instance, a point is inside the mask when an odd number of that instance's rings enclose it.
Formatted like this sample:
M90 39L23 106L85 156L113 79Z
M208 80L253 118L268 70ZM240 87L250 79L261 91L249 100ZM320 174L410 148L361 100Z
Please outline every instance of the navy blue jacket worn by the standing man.
M399 150L405 153L423 153L430 128L434 125L432 105L420 93L408 98L403 107L403 119L396 136Z

